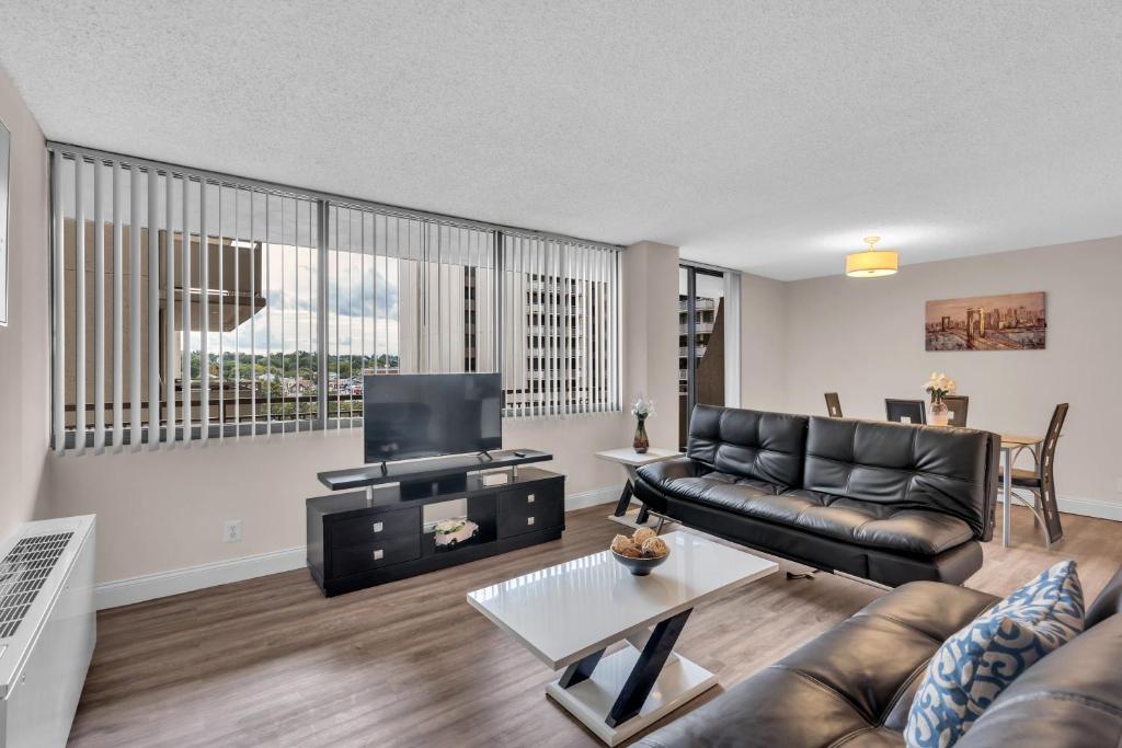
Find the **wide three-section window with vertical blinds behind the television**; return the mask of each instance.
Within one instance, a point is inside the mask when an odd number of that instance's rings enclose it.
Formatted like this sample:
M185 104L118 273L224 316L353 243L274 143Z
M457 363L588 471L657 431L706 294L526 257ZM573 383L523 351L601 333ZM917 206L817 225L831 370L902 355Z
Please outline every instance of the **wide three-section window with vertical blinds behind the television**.
M509 417L619 407L617 248L50 151L58 451L349 427L364 375L502 369Z

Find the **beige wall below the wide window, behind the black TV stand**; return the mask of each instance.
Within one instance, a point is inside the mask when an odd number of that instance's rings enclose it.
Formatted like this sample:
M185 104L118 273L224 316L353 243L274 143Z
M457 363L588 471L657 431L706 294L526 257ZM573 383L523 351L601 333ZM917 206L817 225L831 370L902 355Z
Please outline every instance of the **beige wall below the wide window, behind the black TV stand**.
M623 416L507 422L507 446L552 450L570 495L617 484L592 459L618 446ZM49 458L59 516L98 515L98 581L185 569L304 545L304 500L328 491L321 470L362 462L360 430L212 441L157 452ZM610 496L610 493L607 493ZM241 543L222 523L241 519Z

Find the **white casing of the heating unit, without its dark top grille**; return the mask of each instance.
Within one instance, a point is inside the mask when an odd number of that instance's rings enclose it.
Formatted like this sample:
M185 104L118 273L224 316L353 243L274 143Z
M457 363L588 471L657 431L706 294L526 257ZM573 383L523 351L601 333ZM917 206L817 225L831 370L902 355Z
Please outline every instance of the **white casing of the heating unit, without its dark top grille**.
M20 539L73 533L22 622L0 639L0 748L65 746L96 641L94 516L20 525Z

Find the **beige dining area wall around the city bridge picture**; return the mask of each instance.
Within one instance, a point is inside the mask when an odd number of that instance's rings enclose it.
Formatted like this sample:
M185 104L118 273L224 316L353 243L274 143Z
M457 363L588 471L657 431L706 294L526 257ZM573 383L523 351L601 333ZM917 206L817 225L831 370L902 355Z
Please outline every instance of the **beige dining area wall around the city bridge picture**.
M746 285L745 403L825 414L822 393L836 390L847 416L883 418L885 397L923 397L921 385L936 369L971 397L972 426L1040 434L1052 407L1067 401L1059 492L1105 504L1111 515L1122 507L1120 283L1122 237L905 266L889 278L800 280L785 284L785 293L752 284L755 301ZM1047 293L1046 350L925 350L925 302L1032 290ZM783 340L772 333L776 325ZM769 369L764 361L784 348L775 355L784 363Z

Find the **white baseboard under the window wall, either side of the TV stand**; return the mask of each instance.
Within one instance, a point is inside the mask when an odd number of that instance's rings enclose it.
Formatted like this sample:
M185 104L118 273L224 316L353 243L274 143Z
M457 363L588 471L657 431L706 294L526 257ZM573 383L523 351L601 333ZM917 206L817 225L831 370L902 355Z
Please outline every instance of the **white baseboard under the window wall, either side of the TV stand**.
M564 508L565 511L572 511L598 504L614 502L618 498L619 487L607 486L581 493L570 493L564 499ZM135 602L194 592L218 584L241 582L257 576L303 569L306 563L307 554L304 546L270 551L241 558L215 561L199 566L156 572L155 574L99 584L94 592L95 602L98 610L131 606Z

